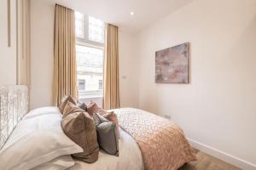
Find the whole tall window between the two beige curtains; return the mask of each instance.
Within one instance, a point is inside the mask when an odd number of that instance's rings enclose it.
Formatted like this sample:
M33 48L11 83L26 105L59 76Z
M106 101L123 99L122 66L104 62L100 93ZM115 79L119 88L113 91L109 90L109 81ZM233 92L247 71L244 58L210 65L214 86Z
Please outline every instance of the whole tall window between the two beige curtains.
M94 17L75 13L77 77L79 99L102 106L104 22Z

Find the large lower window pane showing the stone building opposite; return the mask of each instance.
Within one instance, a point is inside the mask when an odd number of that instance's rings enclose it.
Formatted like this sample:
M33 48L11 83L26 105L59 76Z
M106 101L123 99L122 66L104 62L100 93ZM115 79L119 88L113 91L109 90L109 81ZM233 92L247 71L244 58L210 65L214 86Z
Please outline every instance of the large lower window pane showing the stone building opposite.
M79 99L102 97L103 49L76 45L76 53Z

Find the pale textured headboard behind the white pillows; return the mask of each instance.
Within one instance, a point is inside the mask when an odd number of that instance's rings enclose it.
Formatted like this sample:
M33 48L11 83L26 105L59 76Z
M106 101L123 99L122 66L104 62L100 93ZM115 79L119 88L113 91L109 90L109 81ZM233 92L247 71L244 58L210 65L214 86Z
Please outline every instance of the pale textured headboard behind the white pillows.
M0 87L0 150L27 111L27 86L11 85Z

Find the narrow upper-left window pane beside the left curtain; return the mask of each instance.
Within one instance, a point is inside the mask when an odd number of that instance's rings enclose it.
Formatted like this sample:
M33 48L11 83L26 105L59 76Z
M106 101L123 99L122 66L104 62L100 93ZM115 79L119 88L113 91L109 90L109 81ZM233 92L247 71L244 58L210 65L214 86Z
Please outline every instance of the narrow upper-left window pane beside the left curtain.
M75 12L76 37L84 38L84 14Z

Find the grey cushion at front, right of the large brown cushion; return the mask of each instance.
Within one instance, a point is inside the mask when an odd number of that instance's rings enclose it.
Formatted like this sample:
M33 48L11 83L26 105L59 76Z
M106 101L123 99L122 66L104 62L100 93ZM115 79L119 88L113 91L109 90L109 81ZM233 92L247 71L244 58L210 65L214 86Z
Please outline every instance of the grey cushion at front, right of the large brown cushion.
M119 137L116 124L96 113L93 115L96 122L98 143L102 150L113 156L119 156Z

